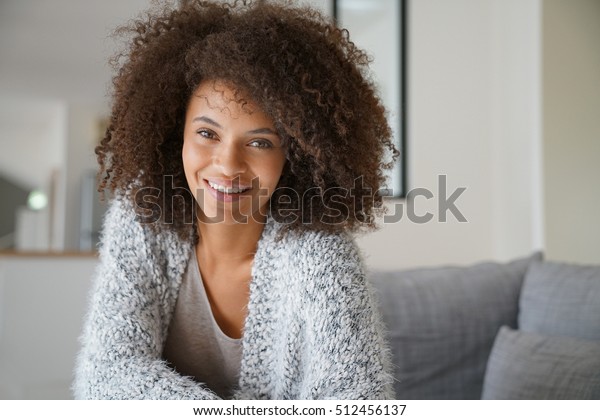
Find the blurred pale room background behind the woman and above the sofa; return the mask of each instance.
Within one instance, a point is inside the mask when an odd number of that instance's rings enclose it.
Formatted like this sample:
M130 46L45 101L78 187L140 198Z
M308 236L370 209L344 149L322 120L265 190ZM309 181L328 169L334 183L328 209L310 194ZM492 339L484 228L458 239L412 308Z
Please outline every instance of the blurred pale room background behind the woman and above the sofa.
M106 206L111 33L152 3L0 0L0 399L71 398ZM372 55L402 146L396 217L357 238L369 268L537 250L600 264L600 0L304 3ZM455 191L464 218L444 211Z

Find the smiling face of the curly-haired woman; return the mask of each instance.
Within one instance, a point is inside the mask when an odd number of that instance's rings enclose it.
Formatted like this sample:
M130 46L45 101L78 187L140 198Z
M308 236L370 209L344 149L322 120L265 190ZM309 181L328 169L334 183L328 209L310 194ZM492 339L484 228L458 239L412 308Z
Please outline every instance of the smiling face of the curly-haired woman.
M263 222L285 163L273 121L222 81L204 81L188 104L183 168L204 222Z

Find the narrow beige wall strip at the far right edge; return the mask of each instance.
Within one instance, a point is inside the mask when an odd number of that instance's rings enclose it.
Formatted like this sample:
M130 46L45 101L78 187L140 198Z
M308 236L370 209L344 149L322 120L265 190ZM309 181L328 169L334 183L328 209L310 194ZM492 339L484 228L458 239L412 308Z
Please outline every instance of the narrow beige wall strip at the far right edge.
M545 0L547 256L600 263L600 1Z

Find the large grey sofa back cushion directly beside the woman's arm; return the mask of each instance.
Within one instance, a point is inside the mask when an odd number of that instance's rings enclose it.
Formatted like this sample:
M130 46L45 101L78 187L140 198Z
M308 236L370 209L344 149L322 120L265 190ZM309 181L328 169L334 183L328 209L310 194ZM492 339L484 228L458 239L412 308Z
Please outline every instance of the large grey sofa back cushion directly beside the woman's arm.
M531 257L373 273L400 399L479 399L500 326L517 324Z

